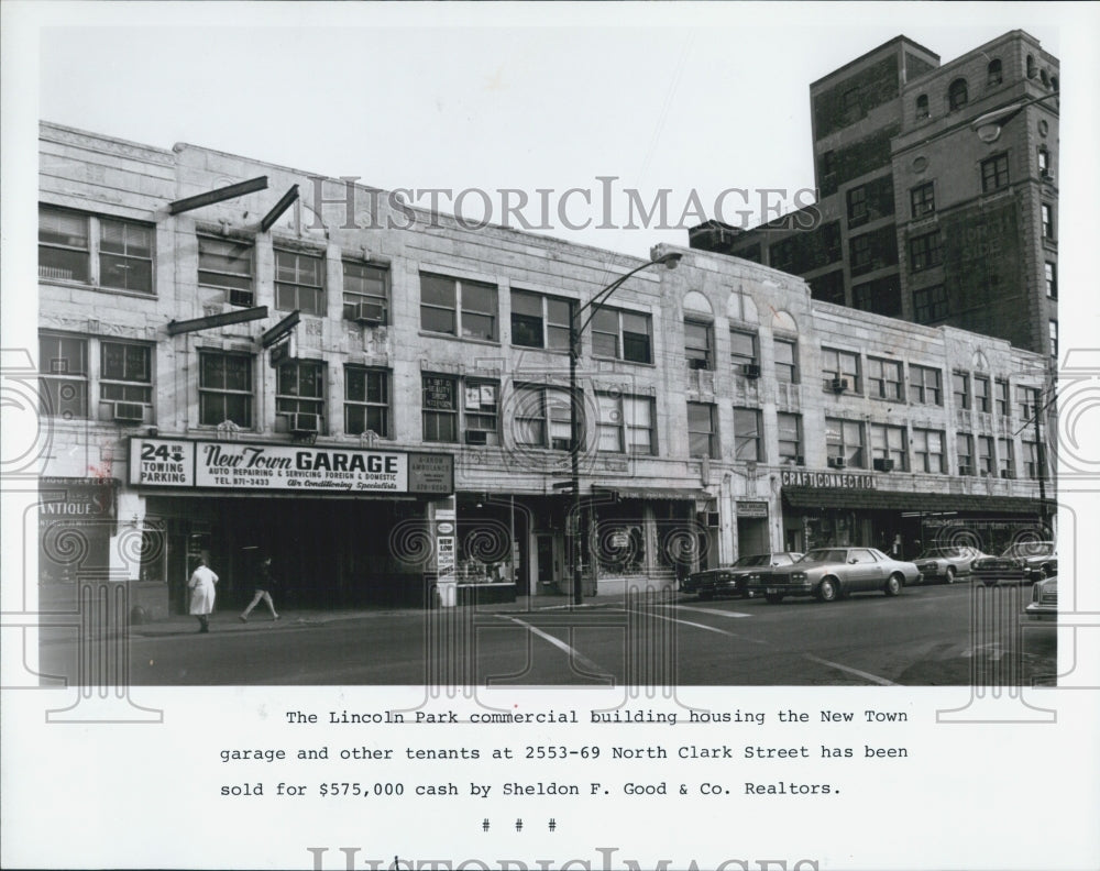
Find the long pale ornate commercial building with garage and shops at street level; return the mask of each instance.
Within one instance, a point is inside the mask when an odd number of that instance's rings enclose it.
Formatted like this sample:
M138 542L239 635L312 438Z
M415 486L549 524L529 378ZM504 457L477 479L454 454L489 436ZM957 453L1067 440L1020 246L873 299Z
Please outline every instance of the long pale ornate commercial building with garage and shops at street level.
M740 553L1034 529L1044 359L814 300L682 250L644 261L415 210L195 145L41 128L40 580L185 609L443 605L669 587ZM585 311L587 316L591 309Z

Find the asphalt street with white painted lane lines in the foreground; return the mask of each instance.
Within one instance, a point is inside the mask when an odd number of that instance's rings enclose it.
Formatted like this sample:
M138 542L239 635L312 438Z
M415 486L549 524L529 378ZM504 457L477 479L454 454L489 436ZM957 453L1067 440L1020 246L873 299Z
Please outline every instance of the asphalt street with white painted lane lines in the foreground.
M961 583L829 604L672 593L580 608L562 598L530 608L284 611L278 624L253 615L244 625L229 613L215 615L209 635L183 617L131 627L127 660L131 685L1050 684L1056 632L1023 618L1030 595ZM75 635L44 641L42 673L95 674L95 663L80 670L87 647Z

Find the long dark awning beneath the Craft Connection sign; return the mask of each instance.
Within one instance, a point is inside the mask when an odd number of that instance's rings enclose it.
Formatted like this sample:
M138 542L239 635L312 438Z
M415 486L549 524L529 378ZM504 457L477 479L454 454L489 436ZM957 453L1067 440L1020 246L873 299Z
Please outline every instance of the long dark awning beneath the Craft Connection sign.
M792 508L862 508L899 511L997 511L1038 515L1041 503L1020 496L977 496L968 493L903 493L843 487L783 487ZM1047 499L1054 507L1054 500Z

